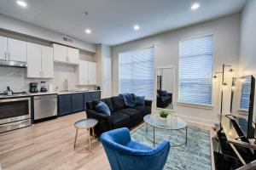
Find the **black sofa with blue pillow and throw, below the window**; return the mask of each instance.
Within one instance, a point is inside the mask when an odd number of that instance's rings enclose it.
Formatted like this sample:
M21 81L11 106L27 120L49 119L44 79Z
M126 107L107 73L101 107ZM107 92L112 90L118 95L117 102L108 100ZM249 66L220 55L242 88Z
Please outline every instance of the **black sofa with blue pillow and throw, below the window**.
M96 111L96 105L99 101L93 101L86 104L87 118L94 118L98 121L95 127L95 133L100 136L102 133L119 127L133 127L139 122L143 122L143 117L151 113L151 100L145 100L145 105L136 105L134 107L125 106L123 96L114 96L102 101L108 105L111 115L108 116Z

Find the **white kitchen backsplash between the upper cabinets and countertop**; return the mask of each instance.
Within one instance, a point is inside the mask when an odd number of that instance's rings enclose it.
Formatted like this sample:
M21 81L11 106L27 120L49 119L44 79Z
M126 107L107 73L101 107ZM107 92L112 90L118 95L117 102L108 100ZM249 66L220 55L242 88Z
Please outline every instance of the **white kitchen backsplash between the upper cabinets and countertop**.
M55 63L55 73L53 79L40 79L40 78L27 78L26 68L16 67L3 67L0 66L0 94L6 89L7 86L14 92L28 91L30 82L47 82L47 85L52 84L53 91L58 87L61 91L64 89L64 81L68 81L68 89L73 90L76 88L94 89L94 86L76 86L76 66L63 65Z

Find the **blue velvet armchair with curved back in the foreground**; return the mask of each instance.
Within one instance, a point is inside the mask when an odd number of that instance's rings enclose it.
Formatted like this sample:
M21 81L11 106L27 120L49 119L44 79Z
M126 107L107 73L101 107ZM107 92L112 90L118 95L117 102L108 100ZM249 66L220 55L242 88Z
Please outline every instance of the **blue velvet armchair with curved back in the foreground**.
M154 148L131 140L128 128L118 128L101 136L112 170L161 170L166 164L170 143Z

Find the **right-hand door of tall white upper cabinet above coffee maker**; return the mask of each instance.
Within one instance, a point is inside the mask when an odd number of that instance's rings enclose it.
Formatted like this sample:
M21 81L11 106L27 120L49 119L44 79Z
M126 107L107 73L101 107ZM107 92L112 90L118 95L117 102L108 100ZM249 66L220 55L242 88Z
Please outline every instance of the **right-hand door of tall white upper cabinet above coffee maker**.
M54 77L53 48L42 46L42 71L44 78Z

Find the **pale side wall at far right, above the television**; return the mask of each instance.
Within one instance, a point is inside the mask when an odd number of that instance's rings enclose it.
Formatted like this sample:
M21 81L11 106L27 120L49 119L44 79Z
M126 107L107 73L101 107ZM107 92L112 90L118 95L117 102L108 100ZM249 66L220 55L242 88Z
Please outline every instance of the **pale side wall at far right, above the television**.
M241 76L256 77L256 1L247 0L241 13ZM256 97L256 94L254 95ZM254 99L254 120L256 121L256 99Z

